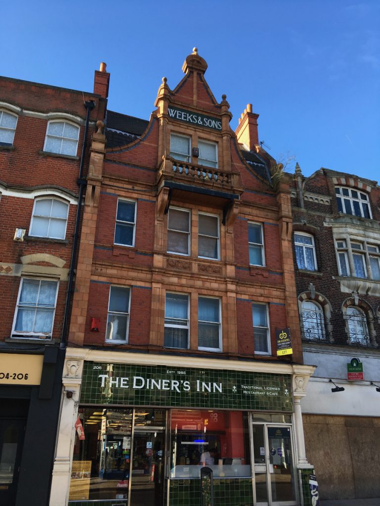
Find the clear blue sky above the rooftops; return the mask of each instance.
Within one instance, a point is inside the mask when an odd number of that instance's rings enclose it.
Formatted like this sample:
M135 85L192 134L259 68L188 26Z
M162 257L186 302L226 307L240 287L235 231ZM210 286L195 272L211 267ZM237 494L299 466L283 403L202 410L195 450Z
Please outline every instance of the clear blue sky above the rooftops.
M2 75L92 91L105 61L109 109L148 119L196 46L233 129L252 103L275 158L380 179L378 0L19 0L2 19Z

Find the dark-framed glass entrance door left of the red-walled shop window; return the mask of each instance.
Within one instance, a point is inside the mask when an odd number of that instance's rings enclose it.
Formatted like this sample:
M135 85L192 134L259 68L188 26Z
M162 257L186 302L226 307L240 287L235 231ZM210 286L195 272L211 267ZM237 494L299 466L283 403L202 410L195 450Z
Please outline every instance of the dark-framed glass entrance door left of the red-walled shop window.
M163 506L163 430L135 428L131 470L131 506Z

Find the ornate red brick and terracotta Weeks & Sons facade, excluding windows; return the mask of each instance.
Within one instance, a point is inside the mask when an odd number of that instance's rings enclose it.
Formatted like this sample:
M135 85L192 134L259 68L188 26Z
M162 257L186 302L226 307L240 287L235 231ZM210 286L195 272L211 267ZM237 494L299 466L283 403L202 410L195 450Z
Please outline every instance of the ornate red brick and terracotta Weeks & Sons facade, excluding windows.
M98 156L97 165L90 161L68 344L177 353L178 350L164 347L164 320L165 295L178 292L189 295L191 354L205 355L198 350L198 297L204 296L220 301L223 355L277 361L276 327L289 326L293 361L301 363L289 187L284 184L275 190L268 177L246 161L239 144L247 145L246 133L240 139L239 129L237 135L231 130L229 104L225 96L220 103L213 97L204 78L206 67L204 60L193 53L187 57L185 76L174 90L169 89L164 78L155 104L157 109L141 138L128 145L107 148L103 167L101 143L105 138L101 139L99 134L99 145L92 151ZM174 120L168 114L169 107L217 118L221 129ZM259 157L257 115L249 109L239 126L247 132L243 127L249 121L248 147ZM199 140L217 144L216 172L209 175L207 169L201 176L196 156L176 172L175 157L169 156L171 133L190 138L193 148ZM264 159L258 159L261 168L264 167ZM118 199L131 200L137 208L131 246L114 243ZM167 252L170 207L191 214L188 255ZM218 260L198 257L199 213L218 218ZM249 264L249 222L262 226L263 266ZM125 344L105 342L111 285L131 288ZM252 303L268 308L267 355L255 355ZM92 318L99 318L99 331L91 330ZM207 355L220 357L220 351Z

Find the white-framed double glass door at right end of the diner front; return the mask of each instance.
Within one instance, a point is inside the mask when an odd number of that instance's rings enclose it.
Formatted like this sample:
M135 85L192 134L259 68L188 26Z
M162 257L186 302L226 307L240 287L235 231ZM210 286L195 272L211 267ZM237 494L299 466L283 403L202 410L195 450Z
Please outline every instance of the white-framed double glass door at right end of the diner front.
M256 504L295 504L291 427L253 424L252 434Z

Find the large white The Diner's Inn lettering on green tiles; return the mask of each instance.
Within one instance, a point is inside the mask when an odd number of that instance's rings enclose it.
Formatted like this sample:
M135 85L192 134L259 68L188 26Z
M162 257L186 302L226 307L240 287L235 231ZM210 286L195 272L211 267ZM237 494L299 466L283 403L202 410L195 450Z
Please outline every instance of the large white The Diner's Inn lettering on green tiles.
M109 377L108 374L99 374L102 378L101 387L108 388L132 388L132 389L145 389L145 390L171 390L176 392L189 392L191 384L186 379L153 379L144 378L142 376L133 376L132 382L129 377ZM222 392L222 384L215 382L203 382L197 379L196 381L197 392Z

